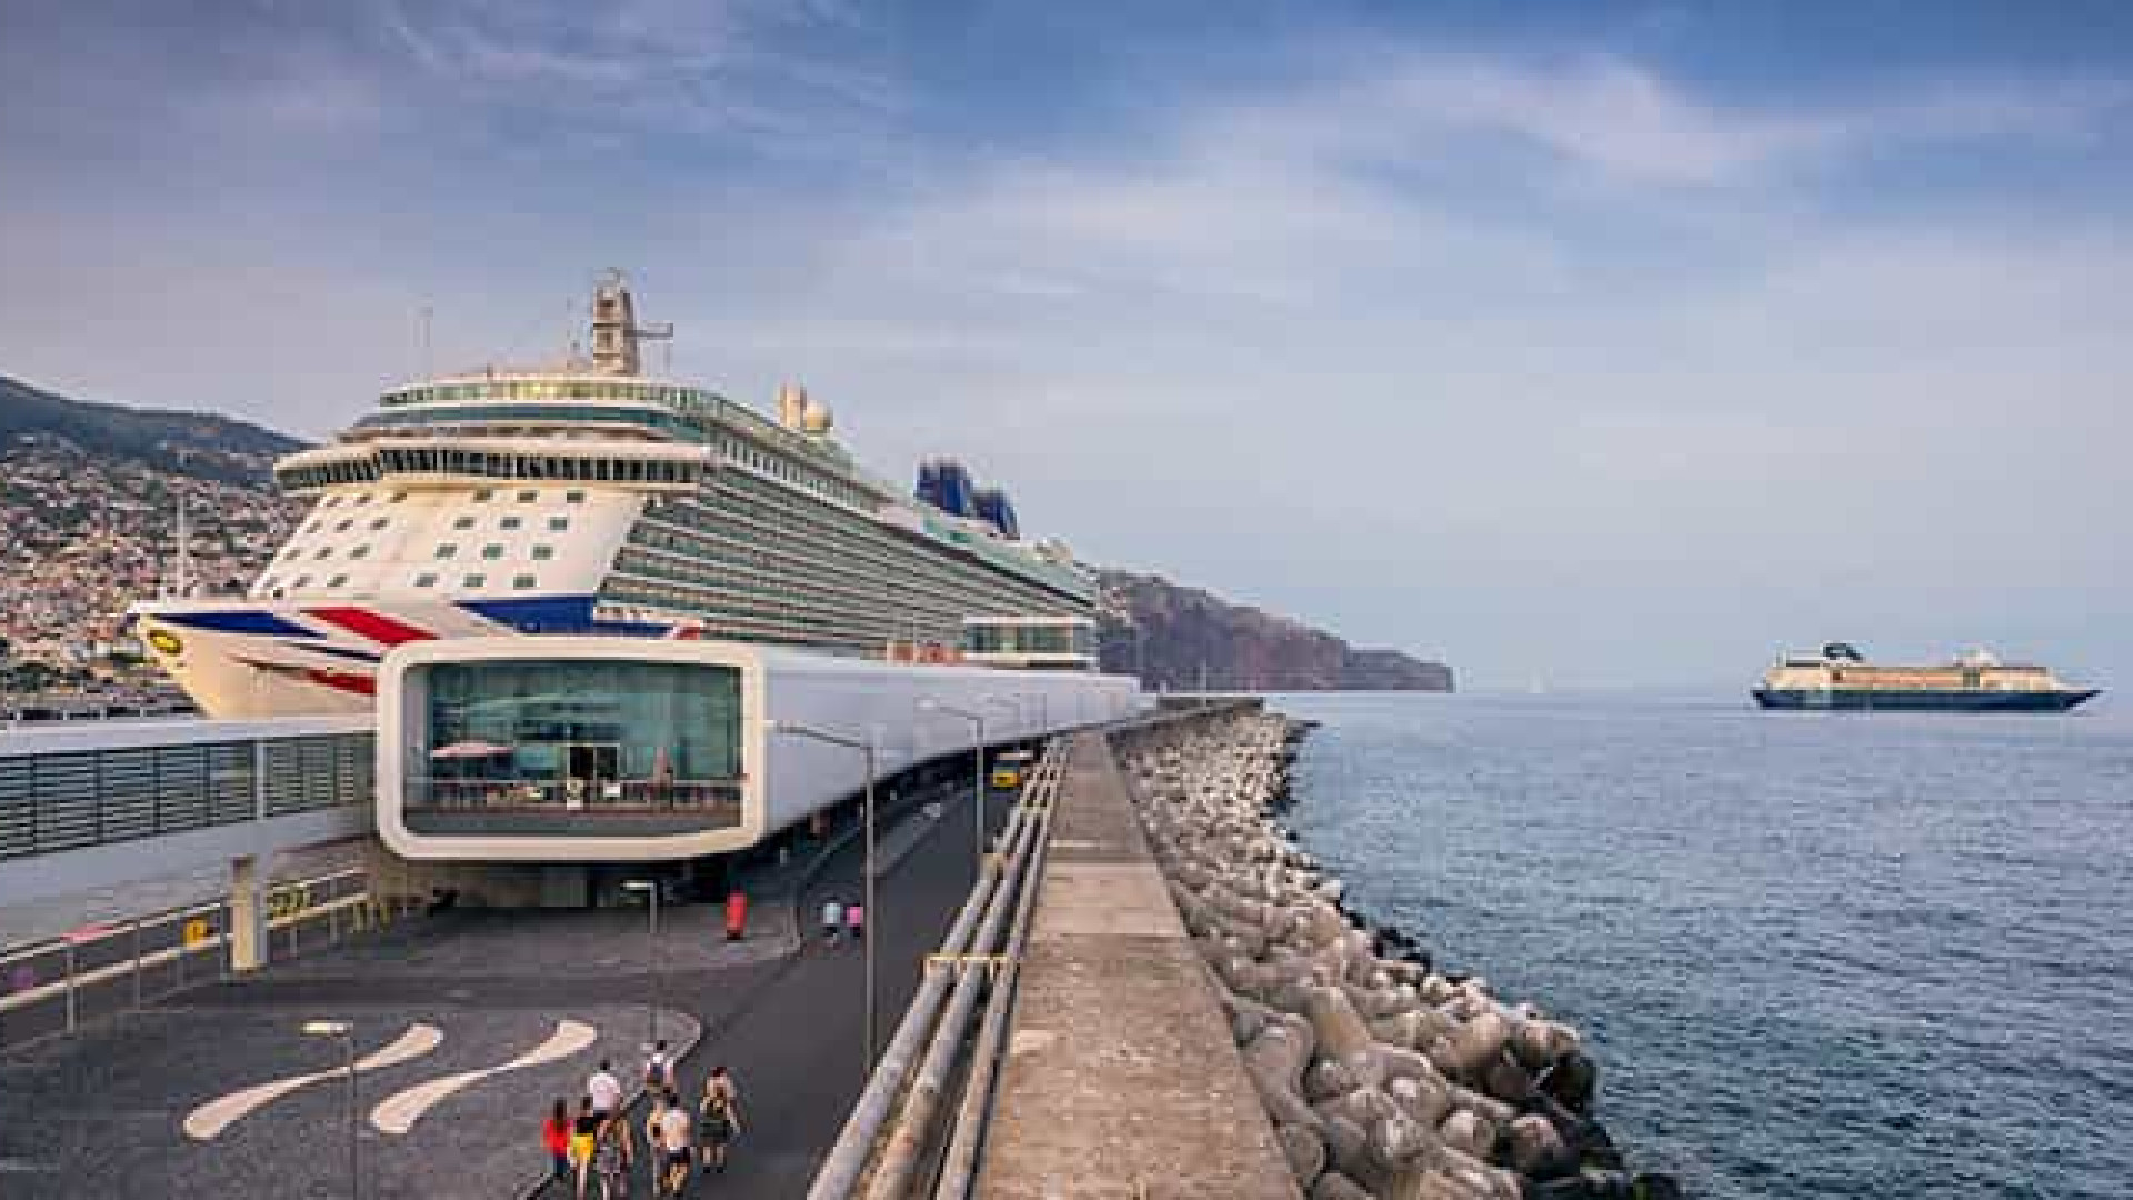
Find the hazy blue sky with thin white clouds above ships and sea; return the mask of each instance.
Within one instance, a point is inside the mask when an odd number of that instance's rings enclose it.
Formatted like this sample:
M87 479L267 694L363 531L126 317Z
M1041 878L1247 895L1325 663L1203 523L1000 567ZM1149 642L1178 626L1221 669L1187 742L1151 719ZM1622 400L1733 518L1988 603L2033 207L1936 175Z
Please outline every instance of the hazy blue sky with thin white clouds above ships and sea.
M1470 685L2133 685L2129 4L0 0L0 374L83 399L326 438L619 267Z

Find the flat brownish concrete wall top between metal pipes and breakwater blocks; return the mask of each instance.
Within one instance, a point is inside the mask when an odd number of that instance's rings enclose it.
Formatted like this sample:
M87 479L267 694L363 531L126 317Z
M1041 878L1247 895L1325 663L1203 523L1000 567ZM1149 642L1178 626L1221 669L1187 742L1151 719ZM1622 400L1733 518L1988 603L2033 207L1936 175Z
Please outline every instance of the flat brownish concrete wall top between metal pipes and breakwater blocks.
M1058 792L977 1191L1299 1196L1101 735Z

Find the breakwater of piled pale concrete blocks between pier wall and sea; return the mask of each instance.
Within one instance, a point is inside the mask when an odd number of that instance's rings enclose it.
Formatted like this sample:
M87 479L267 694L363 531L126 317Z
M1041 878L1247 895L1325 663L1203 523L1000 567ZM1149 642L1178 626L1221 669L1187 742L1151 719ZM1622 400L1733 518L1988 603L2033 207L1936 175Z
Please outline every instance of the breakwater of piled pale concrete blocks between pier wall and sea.
M1576 1029L1440 974L1344 905L1278 816L1308 724L1258 709L1116 739L1171 897L1312 1200L1662 1200L1598 1121Z

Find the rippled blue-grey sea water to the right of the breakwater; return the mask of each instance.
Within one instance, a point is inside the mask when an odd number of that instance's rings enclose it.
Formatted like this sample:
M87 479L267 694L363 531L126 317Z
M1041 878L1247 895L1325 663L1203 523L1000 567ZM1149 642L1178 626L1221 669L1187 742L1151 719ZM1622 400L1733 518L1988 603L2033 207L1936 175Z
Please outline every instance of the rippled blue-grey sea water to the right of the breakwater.
M2105 698L2110 700L2110 698ZM2133 1196L2133 711L1282 696L1293 824L1694 1194Z

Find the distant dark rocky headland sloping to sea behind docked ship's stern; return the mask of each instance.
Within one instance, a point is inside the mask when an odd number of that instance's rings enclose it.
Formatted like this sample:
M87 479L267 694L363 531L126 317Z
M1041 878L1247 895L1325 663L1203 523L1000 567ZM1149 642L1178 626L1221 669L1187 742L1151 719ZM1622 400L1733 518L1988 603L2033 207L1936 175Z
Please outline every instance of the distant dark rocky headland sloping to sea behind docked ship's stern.
M1103 668L1148 688L1252 692L1450 692L1453 670L1395 649L1357 649L1301 621L1231 604L1160 574L1098 581Z

